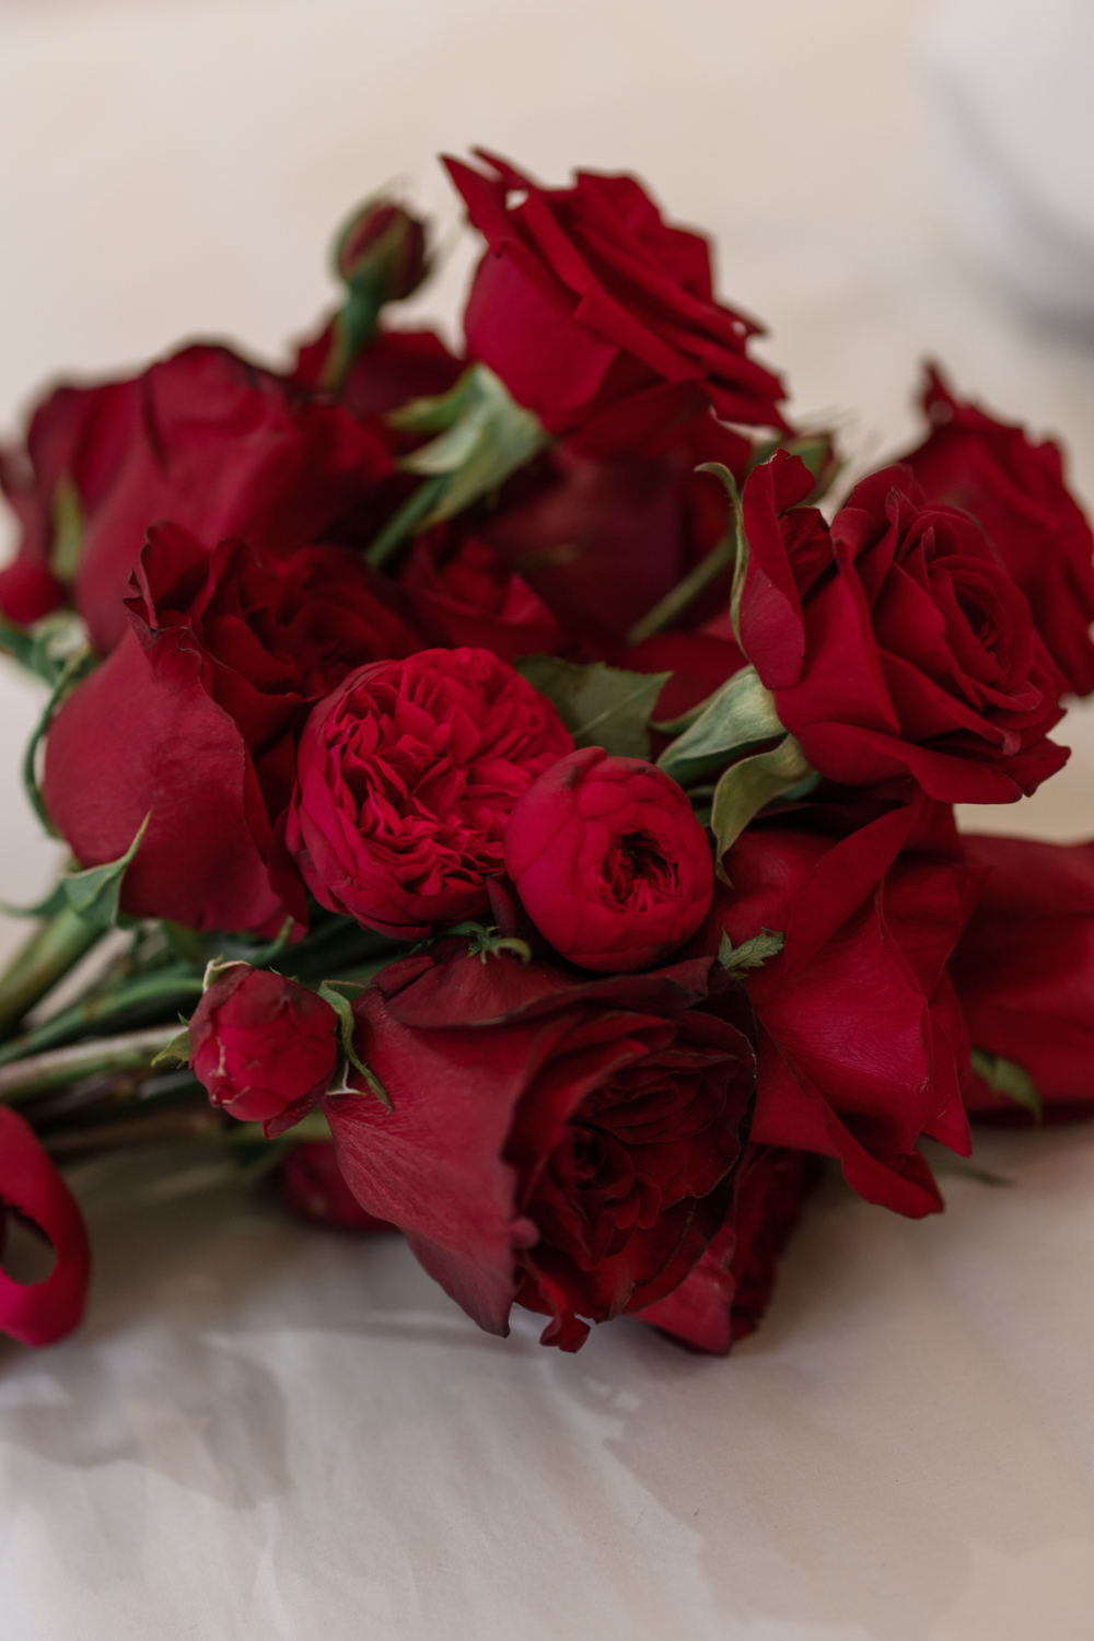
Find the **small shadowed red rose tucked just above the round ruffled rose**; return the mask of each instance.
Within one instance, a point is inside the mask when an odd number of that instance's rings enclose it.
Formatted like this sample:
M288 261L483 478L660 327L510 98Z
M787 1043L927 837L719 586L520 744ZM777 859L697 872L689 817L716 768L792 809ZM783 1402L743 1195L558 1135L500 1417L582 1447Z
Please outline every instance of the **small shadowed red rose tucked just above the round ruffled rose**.
M420 624L444 643L492 650L504 661L566 648L543 599L476 535L438 525L418 537L399 581Z

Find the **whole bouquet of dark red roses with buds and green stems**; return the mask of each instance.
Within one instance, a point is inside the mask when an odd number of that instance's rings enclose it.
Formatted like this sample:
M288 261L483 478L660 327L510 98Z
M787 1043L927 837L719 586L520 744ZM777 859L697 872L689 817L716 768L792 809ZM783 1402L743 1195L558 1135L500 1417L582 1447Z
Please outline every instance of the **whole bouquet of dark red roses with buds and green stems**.
M1056 446L930 371L848 486L638 182L448 171L459 356L392 323L430 246L381 199L290 368L187 346L3 451L72 857L0 976L28 1344L84 1306L61 1168L123 1147L397 1227L494 1332L725 1352L822 1159L919 1218L969 1114L1094 1109L1094 843L953 820L1094 689Z

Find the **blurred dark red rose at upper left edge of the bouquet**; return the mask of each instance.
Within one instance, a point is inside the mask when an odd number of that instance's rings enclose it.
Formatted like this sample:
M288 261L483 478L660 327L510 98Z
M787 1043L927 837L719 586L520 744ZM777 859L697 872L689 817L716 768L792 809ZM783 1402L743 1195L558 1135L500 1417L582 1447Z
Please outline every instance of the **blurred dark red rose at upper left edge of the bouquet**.
M105 655L126 632L149 525L295 546L366 501L390 466L340 405L226 348L192 346L131 381L57 389L31 420L26 459L5 461L3 487L23 523L20 558L74 581Z

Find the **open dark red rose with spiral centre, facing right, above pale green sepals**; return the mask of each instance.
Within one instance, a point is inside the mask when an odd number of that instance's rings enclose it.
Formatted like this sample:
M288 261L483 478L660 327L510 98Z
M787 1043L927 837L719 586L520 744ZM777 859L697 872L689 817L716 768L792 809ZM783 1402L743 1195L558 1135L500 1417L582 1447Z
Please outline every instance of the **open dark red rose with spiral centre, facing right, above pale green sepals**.
M832 528L776 455L745 486L741 645L781 722L841 786L912 776L941 802L1014 802L1068 758L1060 678L979 525L907 468L863 479Z

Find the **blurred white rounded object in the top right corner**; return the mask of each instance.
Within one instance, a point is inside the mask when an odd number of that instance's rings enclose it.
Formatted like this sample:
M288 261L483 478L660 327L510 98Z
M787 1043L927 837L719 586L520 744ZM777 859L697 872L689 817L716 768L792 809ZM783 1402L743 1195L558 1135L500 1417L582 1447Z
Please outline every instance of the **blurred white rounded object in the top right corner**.
M951 0L927 44L966 235L1040 313L1094 325L1094 8Z

